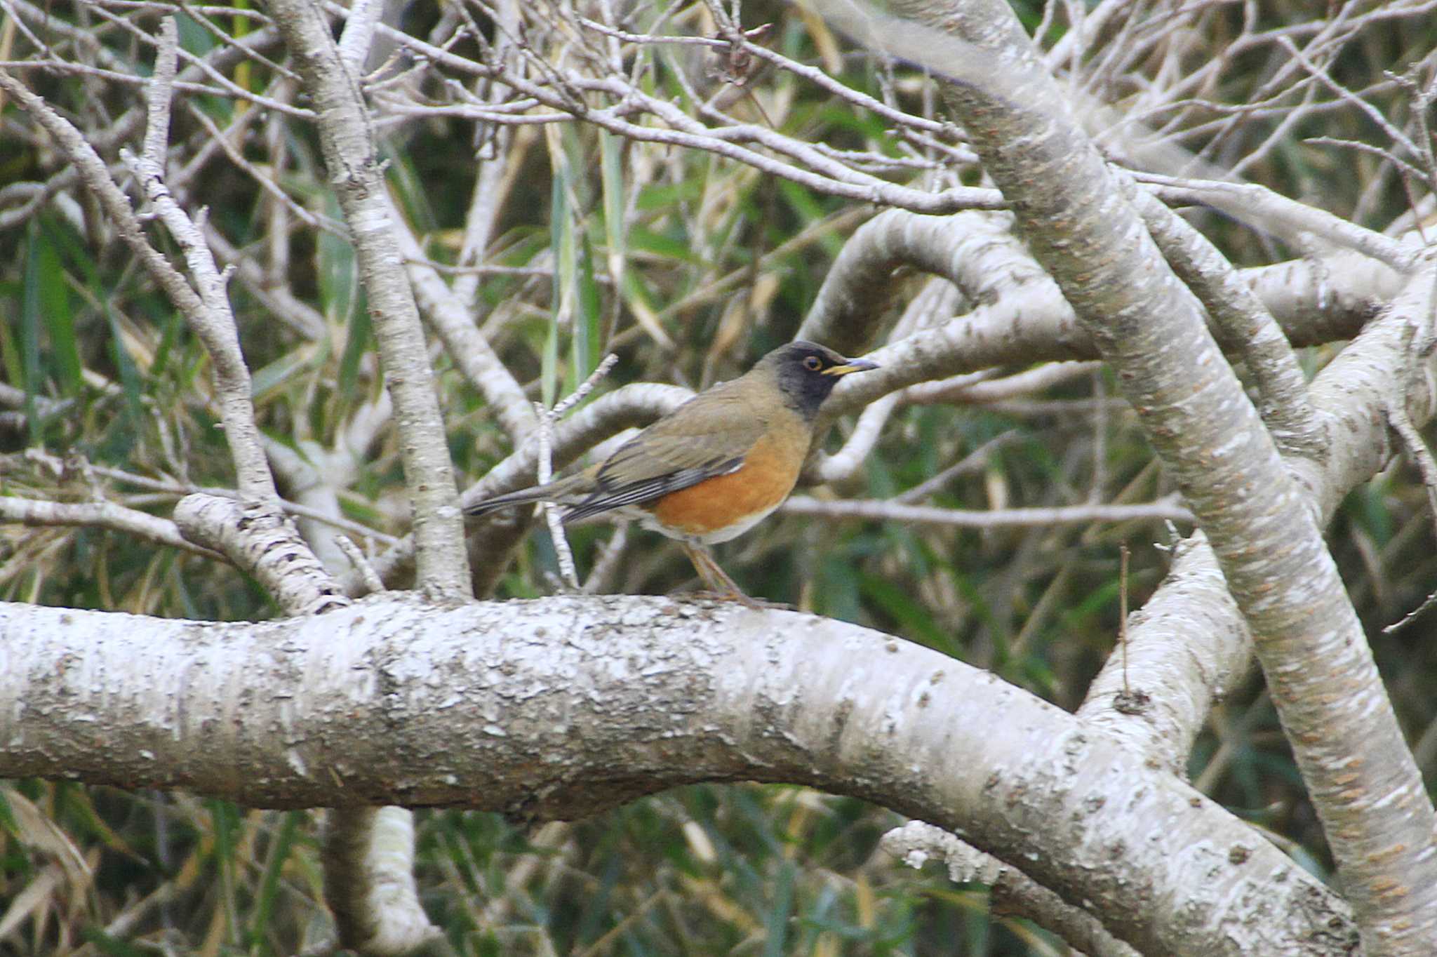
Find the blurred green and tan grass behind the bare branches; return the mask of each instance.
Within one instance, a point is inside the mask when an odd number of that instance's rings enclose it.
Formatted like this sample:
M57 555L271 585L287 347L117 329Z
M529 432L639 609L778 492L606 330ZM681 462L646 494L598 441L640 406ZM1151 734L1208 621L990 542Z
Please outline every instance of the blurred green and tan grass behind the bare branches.
M152 32L161 6L56 1L45 7L47 27L33 17L22 22L76 62L144 76L152 50L116 22ZM1209 161L1365 226L1384 228L1408 208L1420 184L1381 155L1305 142L1332 137L1390 147L1368 115L1285 73L1290 55L1277 43L1234 52L1234 37L1263 30L1290 29L1300 43L1325 10L1262 3L1252 7L1259 22L1244 24L1239 4L1196 6L1178 17L1171 4L1131 4L1078 75L1104 101L1137 109L1161 70L1183 75L1226 60L1193 99L1170 99L1140 118L1170 128L1175 142ZM1371 11L1377 4L1348 6ZM246 7L207 10L240 36L259 23ZM1023 3L1020 13L1030 29L1042 27L1045 46L1066 33L1062 4L1045 11ZM634 24L660 16L675 33L713 33L703 4L641 6ZM411 4L397 26L425 36L441 17L434 4ZM1177 34L1177 22L1180 50L1160 45L1142 63L1106 69L1105 57L1132 34ZM0 60L40 55L9 9L0 23ZM766 45L849 86L910 112L934 111L920 75L854 52L800 7L749 3L743 23L772 23ZM185 13L180 24L185 49L203 55L217 43ZM1420 65L1420 79L1430 82L1434 39L1430 17L1367 17L1323 62L1342 86L1405 124L1407 91L1384 72ZM737 88L697 47L654 47L650 56L655 95L687 103L694 89L724 93L734 115L789 135L908 155L881 119L789 73L762 69ZM274 76L259 63L230 75L241 88L274 91ZM32 70L23 79L96 129L141 95L103 75ZM274 162L282 144L285 164L273 171L283 188L312 214L333 218L313 131L274 116L241 125L241 114L256 106L231 98L185 99L172 141L180 162L194 167L187 170L191 204L205 204L213 228L240 253L274 259L274 244L285 243L287 289L322 320L319 335L306 335L277 319L250 286L231 283L260 422L270 438L305 454L313 444L331 447L382 388L352 251L339 236L293 217L293 228L277 237L274 204L223 151L204 145L211 135L201 116L241 129L234 148L250 162ZM1259 102L1272 108L1219 109ZM1299 103L1326 106L1299 118ZM468 121L425 118L379 132L391 187L425 239L425 254L453 263L476 155L496 147L494 129L476 134ZM532 395L547 401L609 351L621 362L601 392L638 381L701 388L743 371L792 338L845 237L871 213L708 154L632 144L591 126L516 126L506 137L500 148L509 170L483 260L491 269L480 283L477 320ZM13 103L0 114L0 375L10 387L0 397L0 491L63 501L103 494L168 514L188 487L230 484L224 435L208 402L208 361L190 329L122 246L98 241L83 197L63 193L16 214L30 200L20 187L56 170ZM98 145L115 160L121 144ZM944 177L979 182L967 168L923 172L918 181ZM1194 221L1239 264L1303 251L1216 214L1197 213ZM920 287L914 277L897 282L910 296ZM562 328L556 289L572 293L572 322ZM1336 348L1309 349L1303 361L1316 369ZM510 444L443 351L435 349L434 364L454 461L471 481ZM986 458L954 474L930 504L1142 501L1171 491L1114 395L1096 371L999 402L901 410L861 478L836 491L892 497L987 443L994 444ZM375 547L407 530L392 431L368 450L342 506L348 519L374 529ZM581 573L612 535L609 526L575 532ZM1394 635L1381 631L1437 582L1437 543L1415 471L1394 463L1354 493L1329 539L1430 772L1437 759L1433 618ZM973 530L776 516L723 546L720 559L750 593L902 635L1071 708L1114 648L1119 546L1132 550L1128 589L1137 608L1164 575L1168 542L1154 522ZM635 530L625 549L612 591L691 585L691 569L671 543ZM533 533L497 596L549 593L553 569L546 536ZM0 596L201 619L276 614L262 589L228 566L85 527L0 526ZM1191 775L1303 866L1328 874L1321 832L1256 678L1214 708ZM318 815L65 782L14 782L0 795L3 954L263 956L296 953L323 937ZM1066 953L1026 921L990 914L981 887L887 858L877 841L898 820L858 800L785 786L687 787L569 825L422 812L418 877L431 917L463 954Z

